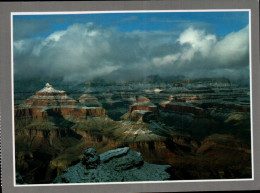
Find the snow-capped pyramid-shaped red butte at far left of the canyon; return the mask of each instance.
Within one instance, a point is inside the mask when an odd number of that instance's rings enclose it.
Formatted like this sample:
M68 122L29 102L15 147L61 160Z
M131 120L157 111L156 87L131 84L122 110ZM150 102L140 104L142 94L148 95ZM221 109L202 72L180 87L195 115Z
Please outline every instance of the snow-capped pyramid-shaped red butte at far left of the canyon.
M106 111L100 106L89 107L84 104L80 105L76 100L69 97L65 91L56 90L49 83L15 109L16 118L48 119L50 114L86 117L88 115L106 115Z

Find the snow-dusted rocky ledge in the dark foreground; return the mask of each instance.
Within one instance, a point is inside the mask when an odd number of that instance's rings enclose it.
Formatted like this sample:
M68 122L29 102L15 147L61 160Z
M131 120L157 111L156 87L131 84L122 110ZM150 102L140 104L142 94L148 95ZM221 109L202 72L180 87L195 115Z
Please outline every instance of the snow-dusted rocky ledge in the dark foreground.
M118 148L98 155L88 148L82 161L64 170L53 183L163 181L170 178L169 165L145 162L139 152L129 147Z

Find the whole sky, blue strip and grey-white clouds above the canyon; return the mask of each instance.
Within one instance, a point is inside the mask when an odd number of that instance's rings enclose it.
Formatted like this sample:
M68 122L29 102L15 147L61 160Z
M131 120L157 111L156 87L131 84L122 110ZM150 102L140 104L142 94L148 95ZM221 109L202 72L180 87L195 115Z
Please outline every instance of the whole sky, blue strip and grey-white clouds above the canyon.
M13 16L14 79L226 77L249 83L249 14Z

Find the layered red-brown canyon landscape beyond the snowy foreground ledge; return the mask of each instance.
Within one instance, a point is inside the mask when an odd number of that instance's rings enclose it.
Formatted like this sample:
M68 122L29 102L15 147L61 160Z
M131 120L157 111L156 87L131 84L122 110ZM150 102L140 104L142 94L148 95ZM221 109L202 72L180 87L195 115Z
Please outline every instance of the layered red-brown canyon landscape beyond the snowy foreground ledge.
M247 87L184 80L73 89L46 83L23 100L15 93L15 163L24 183L52 183L88 148L101 156L126 147L147 164L169 165L167 180L251 178Z

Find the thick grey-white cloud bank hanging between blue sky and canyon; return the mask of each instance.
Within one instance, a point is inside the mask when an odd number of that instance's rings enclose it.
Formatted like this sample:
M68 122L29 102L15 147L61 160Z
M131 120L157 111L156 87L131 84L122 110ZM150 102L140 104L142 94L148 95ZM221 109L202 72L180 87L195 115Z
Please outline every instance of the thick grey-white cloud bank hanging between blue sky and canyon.
M17 39L13 48L14 76L21 79L132 80L158 74L249 81L248 26L219 37L193 26L176 34L75 23L47 37Z

